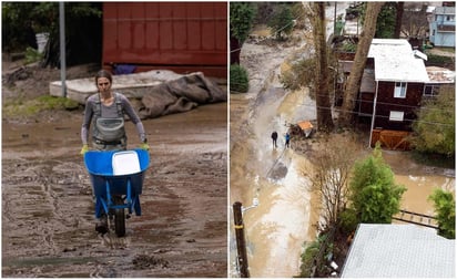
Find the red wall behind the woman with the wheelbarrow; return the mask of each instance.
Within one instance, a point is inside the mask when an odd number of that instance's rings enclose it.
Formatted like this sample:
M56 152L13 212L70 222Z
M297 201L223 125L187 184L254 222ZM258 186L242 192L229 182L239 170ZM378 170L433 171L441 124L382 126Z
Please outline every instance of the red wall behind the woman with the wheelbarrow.
M103 68L226 76L226 2L104 2Z

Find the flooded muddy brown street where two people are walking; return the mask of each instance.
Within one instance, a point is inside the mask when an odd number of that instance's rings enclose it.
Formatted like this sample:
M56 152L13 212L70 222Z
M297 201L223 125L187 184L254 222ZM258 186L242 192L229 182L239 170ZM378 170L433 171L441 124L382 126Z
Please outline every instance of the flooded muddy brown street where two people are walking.
M245 44L242 60L244 52L247 63L252 63L251 58L255 60L260 51L263 61L268 62L250 72L255 77L250 83L250 93L231 94L231 205L241 201L250 207L254 198L258 199L258 206L243 215L250 276L254 278L297 274L302 245L314 240L316 234L312 227L316 215L306 189L308 183L298 176L309 163L284 148L285 123L304 117L304 111L315 118L315 111L304 106L305 93L286 94L277 80L281 65L292 50L277 55L274 48ZM273 131L280 135L276 149L271 139ZM230 240L230 272L236 276L233 232Z

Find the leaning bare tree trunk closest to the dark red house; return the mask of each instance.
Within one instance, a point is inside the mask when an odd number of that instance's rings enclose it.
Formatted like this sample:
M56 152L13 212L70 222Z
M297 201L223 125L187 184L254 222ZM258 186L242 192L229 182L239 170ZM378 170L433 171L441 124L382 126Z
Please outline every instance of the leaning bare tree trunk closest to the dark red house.
M368 56L369 46L376 32L377 15L383 6L384 2L367 2L363 32L358 40L353 68L346 82L346 90L344 91L343 106L339 115L339 123L343 126L349 126L353 121L355 101L360 89L366 58Z

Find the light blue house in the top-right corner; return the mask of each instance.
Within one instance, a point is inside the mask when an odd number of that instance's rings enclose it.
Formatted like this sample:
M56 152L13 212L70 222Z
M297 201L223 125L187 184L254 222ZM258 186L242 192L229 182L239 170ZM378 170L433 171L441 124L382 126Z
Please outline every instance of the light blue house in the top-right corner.
M456 8L436 7L430 21L429 40L436 46L456 45Z

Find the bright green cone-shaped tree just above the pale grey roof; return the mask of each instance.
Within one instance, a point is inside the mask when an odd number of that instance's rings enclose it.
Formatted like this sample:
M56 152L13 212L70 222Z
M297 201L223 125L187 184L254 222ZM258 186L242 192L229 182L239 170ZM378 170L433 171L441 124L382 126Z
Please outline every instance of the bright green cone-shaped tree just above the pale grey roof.
M349 190L358 222L389 224L392 216L399 211L406 188L395 184L394 173L384 163L377 144L372 156L355 164Z

